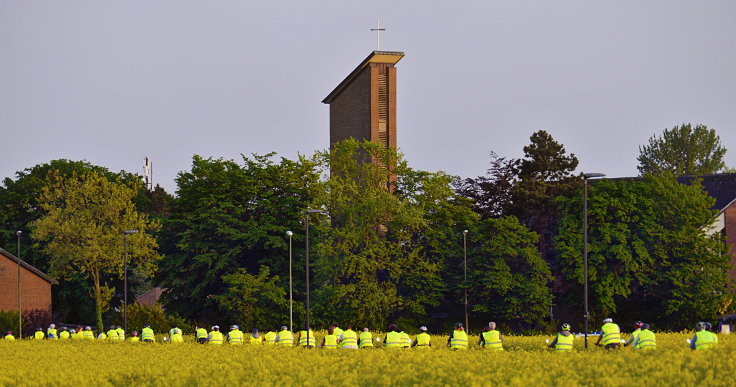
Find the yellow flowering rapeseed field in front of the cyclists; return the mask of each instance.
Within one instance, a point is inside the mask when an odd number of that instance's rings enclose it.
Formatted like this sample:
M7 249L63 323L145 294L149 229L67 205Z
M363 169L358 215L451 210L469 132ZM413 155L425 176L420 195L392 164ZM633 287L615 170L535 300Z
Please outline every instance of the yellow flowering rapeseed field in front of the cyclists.
M572 353L546 349L551 336L507 336L504 352L452 351L447 336L430 350L0 340L0 385L735 385L736 336L708 351L691 351L691 336L660 333L649 352L586 352L580 338Z

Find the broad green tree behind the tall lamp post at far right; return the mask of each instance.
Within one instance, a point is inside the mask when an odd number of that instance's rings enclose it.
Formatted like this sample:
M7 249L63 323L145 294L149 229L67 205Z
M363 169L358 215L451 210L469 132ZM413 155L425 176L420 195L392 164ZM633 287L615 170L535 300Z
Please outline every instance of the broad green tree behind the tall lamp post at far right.
M560 202L557 253L565 279L581 285L581 198ZM595 182L588 212L594 310L615 313L623 305L675 328L723 311L733 297L726 290L730 257L721 236L706 233L713 203L699 183L686 186L671 174Z

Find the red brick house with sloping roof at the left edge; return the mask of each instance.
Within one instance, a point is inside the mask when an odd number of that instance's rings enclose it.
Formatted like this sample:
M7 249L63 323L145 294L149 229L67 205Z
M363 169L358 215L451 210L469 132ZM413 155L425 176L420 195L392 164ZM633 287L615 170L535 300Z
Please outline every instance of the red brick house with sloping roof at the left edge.
M19 263L21 308L46 310L51 314L51 285L59 283L3 249L0 249L0 310L18 310Z

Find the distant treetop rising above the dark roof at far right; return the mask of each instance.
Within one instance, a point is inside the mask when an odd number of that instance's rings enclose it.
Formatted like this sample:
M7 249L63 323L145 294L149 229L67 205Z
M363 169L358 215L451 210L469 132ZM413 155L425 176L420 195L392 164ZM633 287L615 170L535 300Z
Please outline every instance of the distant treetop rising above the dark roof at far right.
M714 129L705 125L682 124L665 129L661 137L652 136L639 147L639 173L672 172L675 175L707 175L725 167L726 148Z

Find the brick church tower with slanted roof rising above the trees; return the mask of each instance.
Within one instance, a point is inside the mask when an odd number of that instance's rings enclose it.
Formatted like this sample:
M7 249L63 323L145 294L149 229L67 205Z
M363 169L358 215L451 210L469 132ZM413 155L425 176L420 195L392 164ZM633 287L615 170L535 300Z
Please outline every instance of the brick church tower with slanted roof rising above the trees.
M322 101L330 146L350 137L396 149L396 63L403 52L373 51Z

